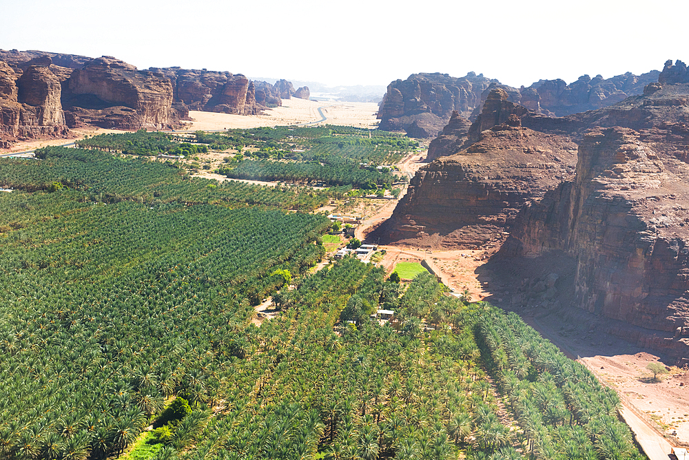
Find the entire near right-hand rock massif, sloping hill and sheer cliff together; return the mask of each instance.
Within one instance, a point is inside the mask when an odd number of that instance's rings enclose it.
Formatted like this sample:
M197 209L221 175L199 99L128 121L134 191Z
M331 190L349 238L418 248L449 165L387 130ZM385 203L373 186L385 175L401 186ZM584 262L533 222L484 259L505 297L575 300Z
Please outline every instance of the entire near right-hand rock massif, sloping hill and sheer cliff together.
M453 115L379 235L499 247L481 275L494 302L578 307L601 331L689 355L687 80L667 63L642 94L565 117L492 90L470 127Z

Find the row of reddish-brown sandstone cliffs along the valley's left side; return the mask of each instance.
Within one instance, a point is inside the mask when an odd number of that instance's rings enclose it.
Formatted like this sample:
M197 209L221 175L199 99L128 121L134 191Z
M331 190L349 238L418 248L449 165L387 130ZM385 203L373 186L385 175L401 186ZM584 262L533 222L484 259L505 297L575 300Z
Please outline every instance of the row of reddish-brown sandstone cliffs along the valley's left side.
M242 74L137 70L112 56L97 59L41 51L0 50L0 147L37 136L67 136L84 124L119 129L180 126L189 109L254 115L294 94ZM308 98L308 88L300 88Z

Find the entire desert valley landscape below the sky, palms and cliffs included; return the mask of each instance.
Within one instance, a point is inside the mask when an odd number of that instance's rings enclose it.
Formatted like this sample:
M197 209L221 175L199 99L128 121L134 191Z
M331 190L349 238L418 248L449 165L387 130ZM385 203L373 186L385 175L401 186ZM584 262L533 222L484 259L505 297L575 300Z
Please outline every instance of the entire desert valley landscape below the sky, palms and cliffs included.
M0 50L0 456L684 460L688 101Z

